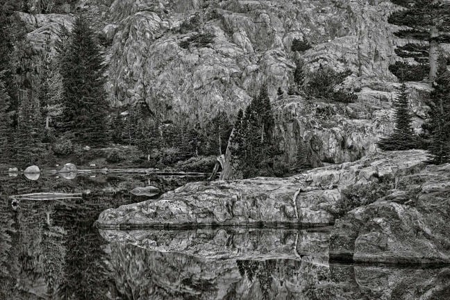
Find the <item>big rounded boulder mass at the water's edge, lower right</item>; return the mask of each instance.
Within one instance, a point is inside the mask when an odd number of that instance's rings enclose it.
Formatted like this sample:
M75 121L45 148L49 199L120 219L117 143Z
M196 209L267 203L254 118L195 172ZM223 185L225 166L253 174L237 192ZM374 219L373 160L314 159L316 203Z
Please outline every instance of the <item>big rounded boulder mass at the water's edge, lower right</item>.
M398 178L385 198L339 219L331 257L370 263L450 263L450 165Z

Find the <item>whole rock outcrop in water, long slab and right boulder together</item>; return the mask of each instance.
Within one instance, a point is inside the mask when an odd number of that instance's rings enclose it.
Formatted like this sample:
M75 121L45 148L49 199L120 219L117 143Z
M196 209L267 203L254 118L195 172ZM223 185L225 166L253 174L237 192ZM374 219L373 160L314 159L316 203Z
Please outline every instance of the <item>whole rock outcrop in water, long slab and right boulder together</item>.
M355 208L335 222L331 258L371 263L450 263L450 165L426 166L426 159L424 151L393 151L290 178L188 183L156 200L105 210L98 225L331 224L344 188L392 176L395 187L385 197Z

